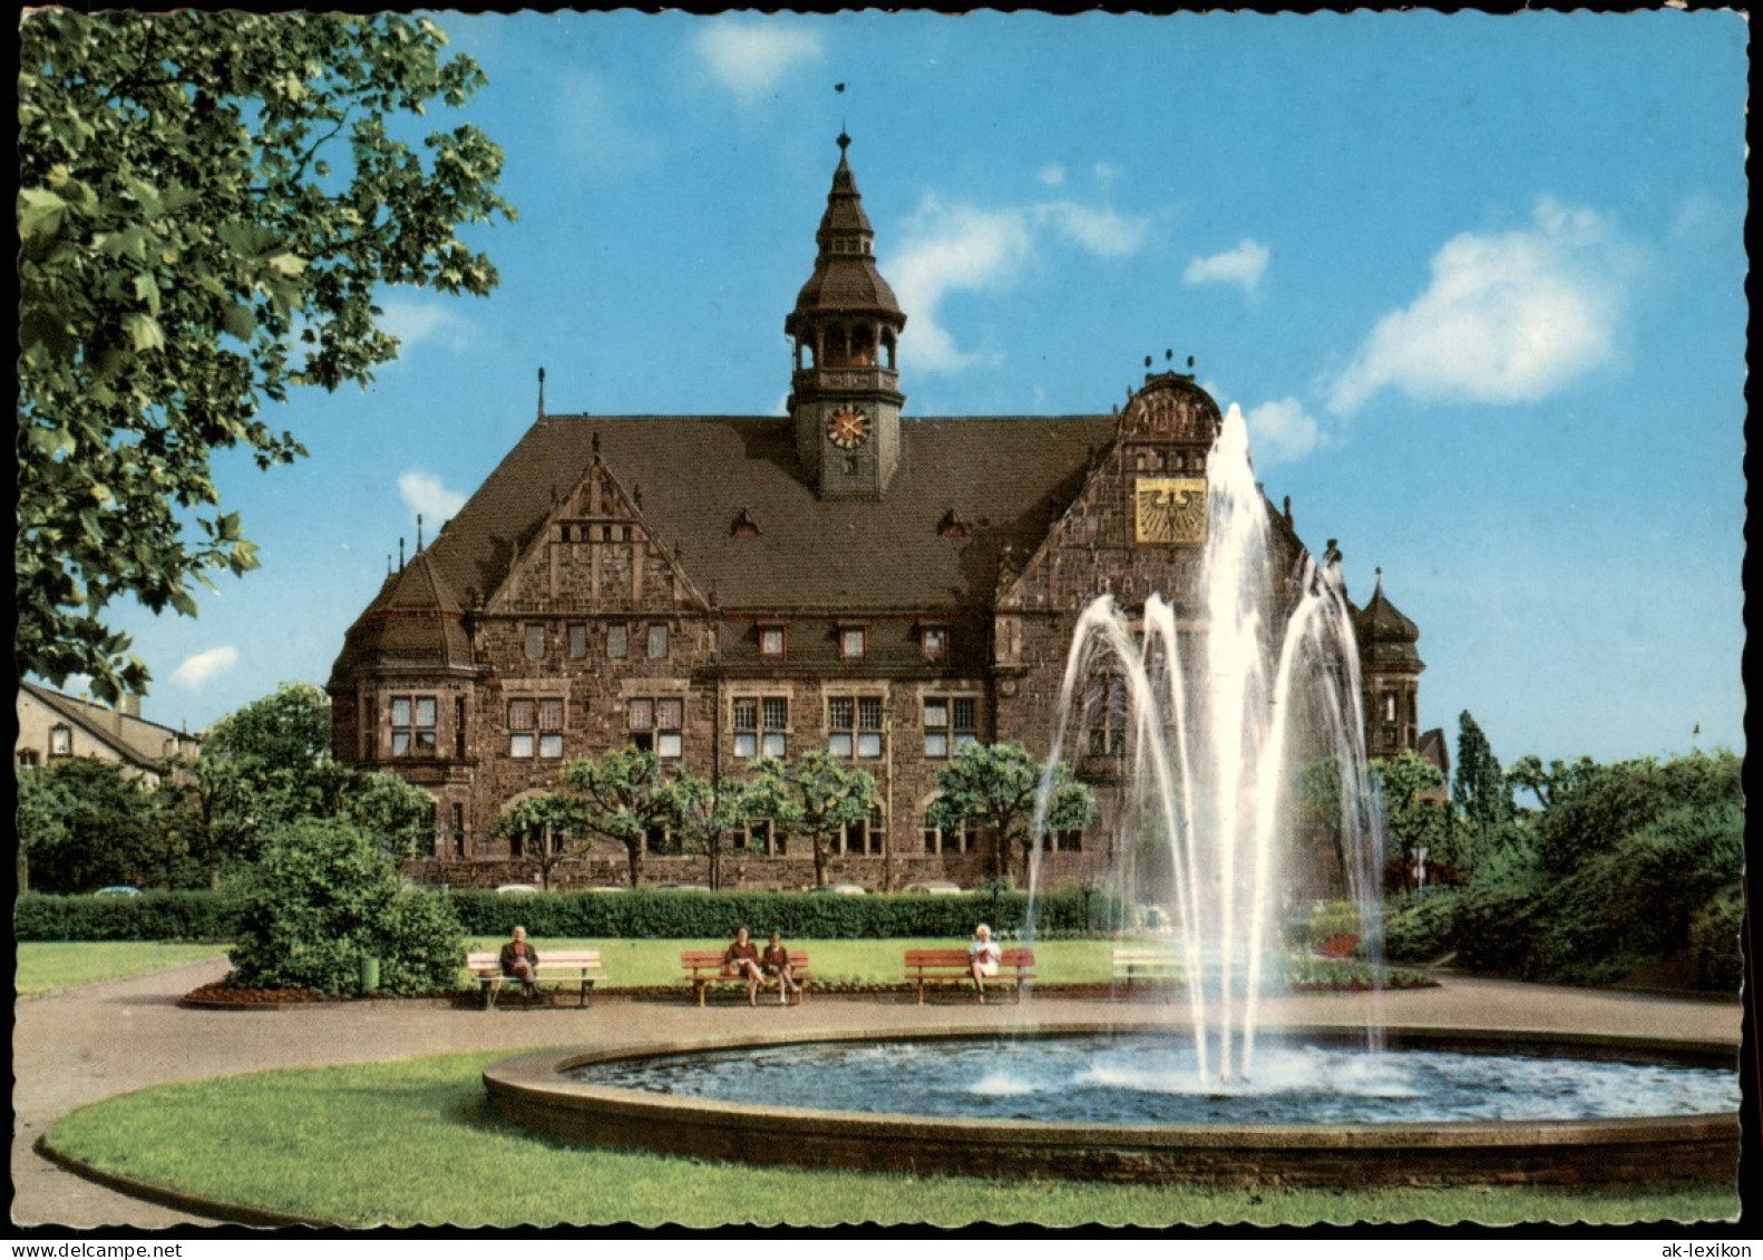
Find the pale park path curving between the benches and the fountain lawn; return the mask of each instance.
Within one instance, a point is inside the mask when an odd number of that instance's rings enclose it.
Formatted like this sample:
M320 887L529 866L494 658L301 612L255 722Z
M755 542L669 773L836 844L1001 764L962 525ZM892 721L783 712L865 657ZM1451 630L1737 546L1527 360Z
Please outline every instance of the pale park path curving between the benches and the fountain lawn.
M758 1010L739 1003L629 1001L601 997L587 1012L568 1004L483 1013L428 1001L337 1003L259 1010L185 1010L190 989L219 980L222 959L127 980L108 980L14 1003L12 1026L12 1221L104 1228L210 1223L95 1186L39 1156L32 1144L67 1112L115 1094L173 1080L270 1068L365 1063L545 1045L615 1047L636 1041L772 1031L781 1020L804 1033L996 1024L1001 1031L1044 1020L1105 1027L1121 1008L1100 999L1040 997L1026 1006L943 999L843 1001ZM1499 1027L1537 1033L1618 1033L1675 1041L1721 1041L1737 1050L1737 1003L1555 989L1449 976L1439 989L1380 996L1391 1027ZM1142 1013L1144 1004L1134 1003ZM1181 1004L1171 1004L1179 1019ZM1266 1003L1268 1024L1358 1027L1370 1001L1358 994L1299 994Z

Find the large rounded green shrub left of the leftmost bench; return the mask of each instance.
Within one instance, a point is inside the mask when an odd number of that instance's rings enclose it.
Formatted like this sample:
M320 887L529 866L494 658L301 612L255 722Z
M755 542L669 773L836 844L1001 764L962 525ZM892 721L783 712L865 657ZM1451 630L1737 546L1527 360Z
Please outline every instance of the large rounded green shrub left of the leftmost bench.
M381 959L391 992L451 989L465 960L458 923L398 876L365 834L305 819L272 834L252 872L233 950L234 985L347 994L361 960Z

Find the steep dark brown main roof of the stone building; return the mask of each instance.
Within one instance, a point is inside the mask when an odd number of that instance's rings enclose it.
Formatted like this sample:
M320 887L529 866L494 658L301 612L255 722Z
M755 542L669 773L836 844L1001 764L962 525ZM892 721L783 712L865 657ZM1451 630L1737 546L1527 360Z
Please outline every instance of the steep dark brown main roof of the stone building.
M989 606L1000 550L1038 545L1114 426L1112 416L903 419L887 495L822 502L783 416L547 416L425 559L460 597L487 601L554 492L589 469L598 435L606 471L626 493L640 488L651 534L725 608ZM742 509L758 536L730 530ZM938 530L950 509L970 522L966 537Z

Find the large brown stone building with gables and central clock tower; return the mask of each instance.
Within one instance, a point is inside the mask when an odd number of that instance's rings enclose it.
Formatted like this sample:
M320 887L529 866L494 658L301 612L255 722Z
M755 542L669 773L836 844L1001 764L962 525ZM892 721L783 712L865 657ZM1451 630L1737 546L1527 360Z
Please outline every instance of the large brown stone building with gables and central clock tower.
M413 874L520 878L541 839L492 835L497 816L554 789L566 760L635 744L712 779L829 749L880 786L829 878L971 885L996 855L927 825L938 770L980 740L1047 751L1097 594L1135 610L1162 592L1197 615L1216 402L1164 372L1109 412L903 416L906 314L848 143L785 319L788 416L547 414L541 374L532 428L349 627L328 684L335 752L434 795L441 839ZM1291 599L1305 546L1289 509L1269 515ZM1400 717L1379 710L1370 735L1412 747L1417 631L1386 608L1373 596L1370 627L1398 641L1366 689L1372 707L1398 696ZM1056 839L1053 881L1104 872L1120 842L1127 724L1118 680L1097 682L1067 749L1104 819ZM559 878L622 869L606 848ZM649 871L703 878L689 858ZM755 826L723 879L800 886L811 853Z

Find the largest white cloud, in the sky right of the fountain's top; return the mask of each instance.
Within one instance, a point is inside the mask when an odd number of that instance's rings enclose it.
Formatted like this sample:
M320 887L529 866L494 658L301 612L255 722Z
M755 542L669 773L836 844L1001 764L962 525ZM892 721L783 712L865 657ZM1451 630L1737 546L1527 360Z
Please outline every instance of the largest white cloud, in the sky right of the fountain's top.
M1537 201L1532 222L1463 233L1432 284L1377 321L1329 384L1350 414L1391 386L1419 402L1537 402L1617 358L1636 250L1592 210Z

